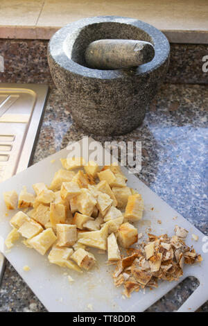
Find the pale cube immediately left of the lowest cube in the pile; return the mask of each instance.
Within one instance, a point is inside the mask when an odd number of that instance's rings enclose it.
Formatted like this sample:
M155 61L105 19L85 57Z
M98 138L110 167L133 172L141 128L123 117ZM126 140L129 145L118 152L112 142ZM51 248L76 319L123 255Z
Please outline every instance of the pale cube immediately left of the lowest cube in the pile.
M56 264L58 266L65 266L65 262L69 257L73 254L72 248L59 248L57 246L53 246L51 251L49 252L48 259L51 264Z

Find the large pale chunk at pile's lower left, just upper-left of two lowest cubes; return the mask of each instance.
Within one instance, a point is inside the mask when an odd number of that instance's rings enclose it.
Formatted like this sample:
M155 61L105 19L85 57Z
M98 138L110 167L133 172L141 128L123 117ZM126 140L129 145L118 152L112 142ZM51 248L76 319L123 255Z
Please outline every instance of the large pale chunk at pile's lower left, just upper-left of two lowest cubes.
M32 246L40 255L45 255L46 251L51 248L57 237L51 228L44 230L40 234L37 234L32 239L28 240L28 244Z

